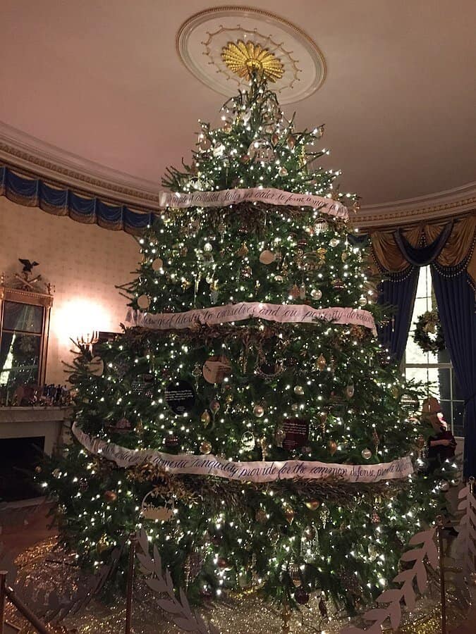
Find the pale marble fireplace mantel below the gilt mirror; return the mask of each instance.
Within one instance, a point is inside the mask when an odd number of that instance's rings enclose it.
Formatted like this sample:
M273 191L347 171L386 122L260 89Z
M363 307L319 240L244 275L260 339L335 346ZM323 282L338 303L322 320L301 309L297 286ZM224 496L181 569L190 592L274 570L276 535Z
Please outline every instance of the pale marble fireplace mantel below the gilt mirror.
M51 455L70 416L68 407L0 407L0 442L2 438L44 436L44 452Z

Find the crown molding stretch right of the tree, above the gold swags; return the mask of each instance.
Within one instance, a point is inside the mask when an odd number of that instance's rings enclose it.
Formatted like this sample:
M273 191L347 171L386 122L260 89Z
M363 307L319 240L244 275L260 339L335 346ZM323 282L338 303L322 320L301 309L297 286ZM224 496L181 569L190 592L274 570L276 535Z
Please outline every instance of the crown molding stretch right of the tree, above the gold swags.
M422 220L451 218L476 209L476 182L445 189L415 198L389 203L363 205L355 217L355 225L362 230L409 225Z

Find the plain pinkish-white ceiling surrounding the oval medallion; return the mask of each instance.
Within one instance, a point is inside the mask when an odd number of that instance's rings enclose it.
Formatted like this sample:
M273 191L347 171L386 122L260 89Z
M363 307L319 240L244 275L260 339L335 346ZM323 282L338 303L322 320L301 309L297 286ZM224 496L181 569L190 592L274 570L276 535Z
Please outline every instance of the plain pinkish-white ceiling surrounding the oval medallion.
M240 3L228 3L239 6ZM176 32L215 2L2 0L0 121L131 177L159 182L224 101L183 66ZM327 62L298 104L326 123L329 168L365 204L475 180L474 0L281 0ZM133 180L131 178L130 180Z

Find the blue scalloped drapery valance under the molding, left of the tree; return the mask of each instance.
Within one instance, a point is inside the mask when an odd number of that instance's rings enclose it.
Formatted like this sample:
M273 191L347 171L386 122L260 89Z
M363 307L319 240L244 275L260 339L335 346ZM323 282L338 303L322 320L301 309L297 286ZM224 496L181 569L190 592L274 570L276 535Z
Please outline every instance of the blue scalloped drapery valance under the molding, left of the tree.
M69 216L78 223L139 235L154 220L152 211L133 211L126 205L86 198L67 187L53 187L41 178L27 178L0 166L0 196L20 205L39 207L54 216Z

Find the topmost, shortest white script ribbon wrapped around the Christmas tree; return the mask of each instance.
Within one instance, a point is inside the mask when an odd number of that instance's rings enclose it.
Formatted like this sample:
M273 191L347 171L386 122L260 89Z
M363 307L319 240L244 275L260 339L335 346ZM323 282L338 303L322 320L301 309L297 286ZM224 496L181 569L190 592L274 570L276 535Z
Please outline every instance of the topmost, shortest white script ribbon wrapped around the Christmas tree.
M217 192L159 192L160 207L224 207L243 201L264 202L270 205L312 207L329 216L348 220L349 213L342 203L314 194L283 192L274 187L251 187L250 189L221 189Z

